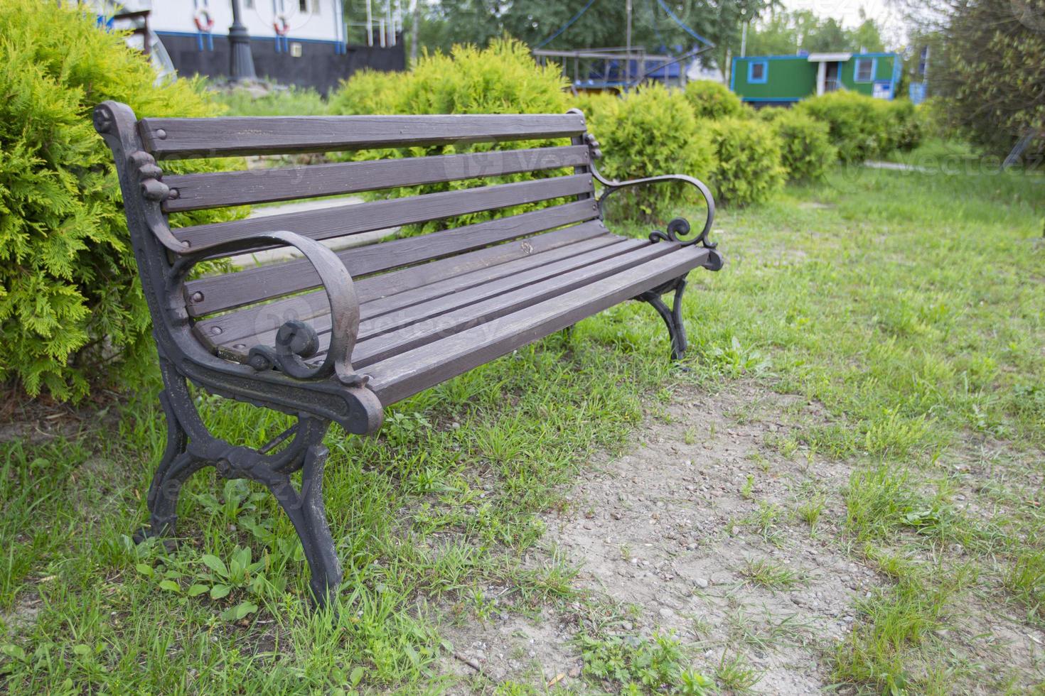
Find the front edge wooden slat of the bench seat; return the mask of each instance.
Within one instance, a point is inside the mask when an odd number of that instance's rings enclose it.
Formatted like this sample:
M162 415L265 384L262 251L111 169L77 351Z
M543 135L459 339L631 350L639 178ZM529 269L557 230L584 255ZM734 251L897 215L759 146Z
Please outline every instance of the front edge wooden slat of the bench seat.
M505 314L371 365L370 387L389 406L618 305L701 265L707 249L688 246L551 299Z

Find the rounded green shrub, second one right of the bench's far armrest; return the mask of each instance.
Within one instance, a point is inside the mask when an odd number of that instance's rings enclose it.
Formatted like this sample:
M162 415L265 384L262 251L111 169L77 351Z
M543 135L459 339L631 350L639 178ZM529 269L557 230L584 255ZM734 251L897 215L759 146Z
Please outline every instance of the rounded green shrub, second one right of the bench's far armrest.
M781 143L773 127L758 119L705 121L718 162L712 173L717 200L761 202L784 184Z

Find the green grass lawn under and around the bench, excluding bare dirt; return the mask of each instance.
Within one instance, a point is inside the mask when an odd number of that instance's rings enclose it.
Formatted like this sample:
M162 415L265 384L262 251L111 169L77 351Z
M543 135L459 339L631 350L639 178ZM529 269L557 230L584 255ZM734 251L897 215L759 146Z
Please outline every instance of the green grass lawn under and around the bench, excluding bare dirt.
M377 437L331 432L325 494L346 579L336 613L307 610L307 571L270 497L209 471L186 489L179 551L130 542L165 433L155 386L65 436L0 443L0 688L439 691L448 624L585 601L563 557L520 558L545 557L534 549L537 513L566 506L589 455L628 441L644 400L735 379L830 416L764 455L802 448L853 466L844 490L796 510L818 543L884 579L827 650L826 673L873 691L1029 685L998 653L976 656L955 607L1012 616L1023 631L1042 625L1039 179L839 169L721 215L726 267L695 272L687 294L692 371L668 367L655 313L627 305L396 406ZM247 445L285 426L249 406L203 404L215 430ZM753 498L758 481L743 485ZM844 500L837 529L820 518L821 495ZM744 524L785 544L791 513L752 509ZM790 583L763 571L753 576L767 586ZM678 683L706 673L743 692L760 678L742 653L701 665L677 641L619 656L624 672L606 676L597 661L624 648L593 635L578 648L593 689L667 674L648 672L647 657Z

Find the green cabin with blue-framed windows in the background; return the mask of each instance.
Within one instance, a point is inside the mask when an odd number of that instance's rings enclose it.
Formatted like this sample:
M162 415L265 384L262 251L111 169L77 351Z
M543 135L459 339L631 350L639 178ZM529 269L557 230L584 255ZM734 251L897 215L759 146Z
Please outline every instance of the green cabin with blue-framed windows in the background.
M892 99L900 68L897 53L750 55L733 59L729 89L757 106L784 105L836 90Z

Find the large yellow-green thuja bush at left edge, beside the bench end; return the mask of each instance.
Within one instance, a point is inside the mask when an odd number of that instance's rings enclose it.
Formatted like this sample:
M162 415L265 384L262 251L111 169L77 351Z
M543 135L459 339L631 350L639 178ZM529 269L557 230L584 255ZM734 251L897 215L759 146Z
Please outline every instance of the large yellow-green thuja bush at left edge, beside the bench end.
M215 107L196 83L156 86L141 54L92 15L0 0L0 381L76 400L155 362L112 158L91 111L106 99L148 116Z

